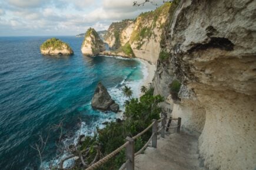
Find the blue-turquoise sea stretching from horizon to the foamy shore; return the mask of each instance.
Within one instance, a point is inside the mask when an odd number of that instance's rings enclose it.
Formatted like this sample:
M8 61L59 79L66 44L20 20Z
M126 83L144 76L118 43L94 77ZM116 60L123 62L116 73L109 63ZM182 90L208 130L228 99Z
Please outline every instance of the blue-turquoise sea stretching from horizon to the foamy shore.
M121 106L125 84L138 95L144 65L135 59L81 54L83 38L56 37L74 50L72 56L43 56L39 46L51 37L0 38L0 169L38 169L39 157L31 146L49 134L42 154L44 164L56 154L63 122L62 142L72 144L78 132L91 135L115 113L91 108L101 81ZM82 120L82 124L80 119Z

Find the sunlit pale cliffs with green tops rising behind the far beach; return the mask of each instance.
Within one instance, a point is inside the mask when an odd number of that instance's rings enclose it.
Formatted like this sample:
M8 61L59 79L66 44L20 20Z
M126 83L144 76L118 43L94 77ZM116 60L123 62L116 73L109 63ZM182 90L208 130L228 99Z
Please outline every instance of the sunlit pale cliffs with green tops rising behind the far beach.
M135 57L156 63L160 52L162 30L168 26L169 15L172 15L177 4L165 3L155 11L141 13L134 21L125 20L112 23L105 36L110 47L131 46ZM124 52L125 53L125 52Z

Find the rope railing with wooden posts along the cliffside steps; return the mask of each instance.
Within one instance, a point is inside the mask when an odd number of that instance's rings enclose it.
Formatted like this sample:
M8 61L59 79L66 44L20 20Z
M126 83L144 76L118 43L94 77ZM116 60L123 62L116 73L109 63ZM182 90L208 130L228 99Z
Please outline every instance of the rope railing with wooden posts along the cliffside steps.
M166 120L178 120L178 125L175 127L168 127L168 125L166 126L165 124L167 123ZM158 123L161 122L161 128L159 130L157 130L157 125ZM149 140L146 142L146 144L139 149L138 152L134 153L134 140L136 140L138 137L140 137L141 135L145 134L145 132L147 132L149 130L149 128L152 127L152 135L149 138ZM104 158L100 159L98 162L96 162L95 164L92 164L91 166L89 166L87 169L85 170L92 170L95 168L99 168L99 166L101 166L102 164L104 164L105 162L107 162L110 158L114 157L115 155L118 154L118 152L120 152L122 149L126 148L126 157L127 157L127 161L119 168L119 170L122 169L127 169L127 170L134 170L134 157L141 154L142 151L144 151L145 148L147 148L148 144L150 141L152 141L152 147L157 148L157 134L159 132L161 132L161 137L165 137L165 127L167 129L169 128L177 128L177 132L179 132L180 127L181 127L181 118L167 118L167 117L163 117L160 118L159 120L153 120L153 122L147 127L145 128L145 130L139 132L139 134L135 135L134 137L130 138L127 137L127 142L125 142L121 147L115 149L115 151L111 152L110 154L108 154L107 156L105 156Z

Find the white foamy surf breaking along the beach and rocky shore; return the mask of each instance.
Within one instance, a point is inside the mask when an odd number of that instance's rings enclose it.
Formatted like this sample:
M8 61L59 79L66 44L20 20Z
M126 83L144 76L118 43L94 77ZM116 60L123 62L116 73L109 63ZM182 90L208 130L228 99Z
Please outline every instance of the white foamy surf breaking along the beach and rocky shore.
M127 58L124 57L117 57L117 56L105 56L105 57L115 57L118 59L125 59L127 60ZM128 59L131 60L131 59ZM124 103L126 100L128 100L127 97L125 97L122 94L122 88L124 86L129 86L131 87L133 94L132 97L134 98L138 98L140 92L140 87L142 86L143 82L145 81L145 79L147 79L148 76L148 70L147 70L147 66L144 62L142 62L139 59L132 59L132 60L138 60L140 63L139 67L133 67L131 72L124 76L124 79L121 81L121 83L117 84L117 86L115 87L111 87L108 89L109 94L111 95L111 97L116 101L116 103L119 104L120 110L124 111L125 106ZM143 77L142 79L139 80L132 80L132 74L134 74L136 69L140 69ZM111 122L111 121L115 121L116 118L122 118L122 116L116 114L116 113L112 113L111 111L107 111L106 113L103 113L101 111L95 111L92 109L91 107L91 102L84 104L83 106L77 108L79 111L83 111L86 110L87 114L95 114L98 115L98 118L95 118L94 120L91 120L90 123L86 123L85 121L82 121L81 123L81 128L79 128L79 130L77 130L74 134L74 136L72 138L66 138L63 143L66 147L68 147L71 144L77 144L78 143L78 139L79 139L79 135L86 135L86 136L93 136L95 135L95 132L97 131L97 127L99 129L102 129L105 127L104 122ZM57 164L57 162L59 162L61 159L69 156L71 153L65 152L61 158L59 158L58 160L55 160L55 165ZM72 159L68 159L67 161L65 161L64 163L64 168L68 168L71 164L72 164ZM43 168L48 169L48 161L43 162Z

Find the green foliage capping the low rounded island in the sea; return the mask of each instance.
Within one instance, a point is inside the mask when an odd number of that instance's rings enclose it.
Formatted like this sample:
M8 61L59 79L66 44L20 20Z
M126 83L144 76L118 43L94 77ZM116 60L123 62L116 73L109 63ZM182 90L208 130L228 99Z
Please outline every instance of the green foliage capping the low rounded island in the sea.
M45 50L48 48L52 48L53 50L61 50L63 47L67 47L68 50L71 50L71 47L68 45L68 43L62 42L61 40L56 38L51 38L42 43L40 49Z

